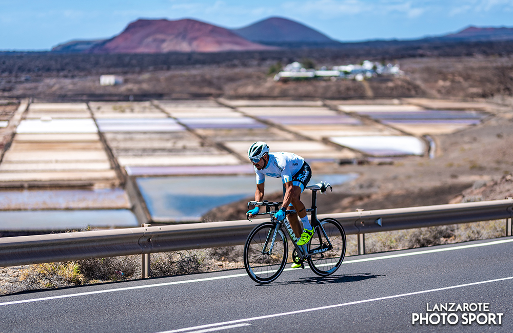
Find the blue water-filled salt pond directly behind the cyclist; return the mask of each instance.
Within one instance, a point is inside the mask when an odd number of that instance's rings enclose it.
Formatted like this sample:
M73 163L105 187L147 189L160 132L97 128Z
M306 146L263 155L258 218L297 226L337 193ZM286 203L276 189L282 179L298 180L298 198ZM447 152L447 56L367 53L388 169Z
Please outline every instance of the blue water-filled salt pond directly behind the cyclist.
M357 174L314 175L309 184L327 181L336 185L357 177ZM215 207L251 199L255 176L147 177L137 178L137 184L153 221L185 222L199 221ZM266 178L265 185L267 194L282 191L281 179Z

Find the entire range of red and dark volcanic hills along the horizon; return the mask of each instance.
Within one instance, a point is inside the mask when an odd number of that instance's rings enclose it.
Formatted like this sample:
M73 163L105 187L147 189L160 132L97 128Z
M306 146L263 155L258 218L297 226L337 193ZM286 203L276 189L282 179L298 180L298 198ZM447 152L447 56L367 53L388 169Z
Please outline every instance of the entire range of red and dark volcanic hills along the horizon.
M168 53L266 51L282 49L423 48L447 43L513 40L513 28L468 27L457 33L409 40L367 40L344 43L301 23L270 17L240 29L225 29L193 19L139 19L110 39L72 40L54 53Z

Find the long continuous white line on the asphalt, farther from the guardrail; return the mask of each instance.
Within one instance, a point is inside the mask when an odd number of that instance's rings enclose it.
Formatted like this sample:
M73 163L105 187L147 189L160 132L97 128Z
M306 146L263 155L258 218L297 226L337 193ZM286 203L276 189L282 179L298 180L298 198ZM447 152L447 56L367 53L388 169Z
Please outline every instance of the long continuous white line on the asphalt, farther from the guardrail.
M479 282L472 282L472 283L453 285L453 286L443 287L443 288L421 290L419 292L413 292L413 293L407 293L407 294L399 294L399 295L385 296L385 297L379 297L379 298L371 298L371 299L367 299L367 300L354 301L354 302L348 302L348 303L341 303L341 304L335 304L335 305L327 305L327 306L321 306L321 307L314 307L314 308L310 308L310 309L290 311L290 312L284 312L284 313L274 314L274 315L252 317L252 318L245 318L245 319L238 319L238 320L230 320L230 321L225 321L225 322L222 322L222 323L215 323L215 324L207 324L207 325L200 325L200 326L194 326L194 327L187 327L187 328L169 330L169 331L159 332L159 333L186 332L186 331L190 331L190 330L193 330L193 329L205 329L205 328L208 328L208 327L215 327L215 326L220 326L220 325L230 325L230 324L236 324L236 323L244 323L244 322L248 322L248 321L255 321L255 320L269 319L269 318L275 318L275 317L297 315L297 314L303 314L303 313L312 312L312 311L320 311L320 310L332 309L332 308L342 307L342 306L347 306L347 305L355 305L355 304L362 304L362 303L369 303L369 302L388 300L388 299L392 299L392 298L400 298L400 297L406 297L406 296L412 296L412 295L426 294L426 293L432 293L432 292L440 292L442 290L455 289L455 288L463 288L463 287L468 287L468 286L473 286L473 285L478 285L478 284L485 284L485 283L492 283L492 282L499 282L499 281L507 281L507 280L512 280L512 279L513 279L513 276L507 277L507 278L502 278L502 279L494 279L494 280L487 280L487 281L479 281Z

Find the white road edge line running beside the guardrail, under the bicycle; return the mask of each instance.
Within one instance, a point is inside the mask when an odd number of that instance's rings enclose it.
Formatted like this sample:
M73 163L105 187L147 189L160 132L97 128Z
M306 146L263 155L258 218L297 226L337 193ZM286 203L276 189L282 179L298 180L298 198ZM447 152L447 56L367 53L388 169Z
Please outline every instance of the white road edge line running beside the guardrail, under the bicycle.
M438 249L430 249L430 250L425 250L425 251L410 252L410 253L388 255L388 256L380 256L380 257L373 257L373 258L355 259L355 260L343 261L342 263L343 264L350 264L350 263L355 263L355 262L365 262L365 261L372 261L372 260L399 258L399 257L415 256L415 255L429 254L429 253L436 253L436 252L452 251L452 250L456 250L456 249L465 249L465 248L471 248L471 247L497 245L497 244L510 243L510 242L513 242L513 239L504 239L504 240L497 240L497 241L491 241L491 242L486 242L486 243L460 245L460 246L453 246L453 247L444 247L444 248L438 248ZM286 268L284 270L296 270L296 269L298 269L298 268ZM48 301L48 300L55 300L55 299L69 298L69 297L78 297L78 296L88 296L88 295L95 295L95 294L121 292L123 290L143 289L143 288L152 288L152 287L162 287L162 286L168 286L168 285L174 285L174 284L182 284L182 283L194 283L194 282L204 282L204 281L221 280L221 279L229 279L229 278L239 278L239 277L243 277L243 276L245 277L245 276L247 276L247 274L244 273L244 274L224 275L224 276L216 276L216 277L203 278L203 279L193 279L193 280L166 282L166 283L156 283L156 284L140 285L140 286L133 286L133 287L96 290L95 292L86 292L86 293L68 294L68 295L60 295L60 296L33 298L33 299L20 300L20 301L4 302L4 303L0 303L0 306L2 306L2 305L12 305L12 304L21 304L21 303L30 303L30 302L38 302L38 301Z

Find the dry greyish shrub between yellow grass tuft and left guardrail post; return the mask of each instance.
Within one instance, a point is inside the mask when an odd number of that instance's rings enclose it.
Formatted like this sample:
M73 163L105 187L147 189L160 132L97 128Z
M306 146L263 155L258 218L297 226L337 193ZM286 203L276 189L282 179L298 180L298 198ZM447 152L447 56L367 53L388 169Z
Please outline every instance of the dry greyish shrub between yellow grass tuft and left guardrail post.
M141 257L90 258L78 262L87 280L125 280L141 273Z

